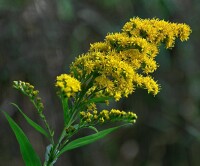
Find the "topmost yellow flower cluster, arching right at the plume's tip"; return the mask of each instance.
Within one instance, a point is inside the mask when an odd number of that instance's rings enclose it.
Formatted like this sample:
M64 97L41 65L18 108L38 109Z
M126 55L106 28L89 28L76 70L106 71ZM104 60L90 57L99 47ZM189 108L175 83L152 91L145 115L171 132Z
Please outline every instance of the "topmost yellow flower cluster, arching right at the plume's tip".
M169 23L159 19L140 19L138 17L130 19L123 29L129 36L142 37L148 42L159 45L166 44L166 48L174 46L176 38L181 41L189 39L191 29L186 24Z

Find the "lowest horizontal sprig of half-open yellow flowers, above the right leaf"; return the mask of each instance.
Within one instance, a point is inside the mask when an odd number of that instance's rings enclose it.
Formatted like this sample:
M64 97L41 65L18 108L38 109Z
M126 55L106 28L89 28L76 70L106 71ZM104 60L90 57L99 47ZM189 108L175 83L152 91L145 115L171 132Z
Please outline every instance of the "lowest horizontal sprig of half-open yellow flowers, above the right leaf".
M80 119L83 124L98 124L106 122L115 122L115 121L124 121L128 123L135 123L137 115L133 112L125 112L116 109L102 110L101 112L92 111L92 112L80 112Z

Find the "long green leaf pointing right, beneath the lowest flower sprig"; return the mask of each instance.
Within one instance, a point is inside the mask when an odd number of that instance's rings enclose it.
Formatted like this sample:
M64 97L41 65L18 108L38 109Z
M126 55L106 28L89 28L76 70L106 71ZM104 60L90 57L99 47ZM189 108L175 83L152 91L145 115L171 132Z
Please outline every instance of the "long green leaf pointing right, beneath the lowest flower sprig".
M103 131L99 131L98 133L95 133L95 134L92 134L92 135L89 135L89 136L85 136L85 137L82 137L82 138L78 138L72 142L70 142L69 144L67 144L58 154L58 157L63 154L64 152L66 151L69 151L69 150L72 150L72 149L75 149L75 148L78 148L78 147L81 147L81 146L84 146L84 145L87 145L87 144L90 144L90 143L93 143L103 137L105 137L106 135L108 135L109 133L119 129L120 127L122 127L124 125L121 125L121 126L118 126L118 127L113 127L113 128L109 128L109 129L106 129L106 130L103 130Z

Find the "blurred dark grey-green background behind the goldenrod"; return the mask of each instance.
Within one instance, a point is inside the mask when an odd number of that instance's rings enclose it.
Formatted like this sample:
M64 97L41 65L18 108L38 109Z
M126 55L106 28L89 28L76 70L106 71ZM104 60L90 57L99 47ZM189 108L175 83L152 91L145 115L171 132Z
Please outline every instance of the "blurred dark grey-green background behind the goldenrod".
M137 113L133 127L65 153L57 166L199 166L200 165L200 2L198 0L0 0L0 109L23 128L43 160L48 142L24 121L10 102L41 123L26 97L12 89L28 81L40 91L45 114L56 135L62 111L55 95L57 75L68 72L90 43L118 32L131 17L185 22L189 41L160 48L154 77L156 96L137 90L112 105ZM21 166L19 146L0 115L0 165Z

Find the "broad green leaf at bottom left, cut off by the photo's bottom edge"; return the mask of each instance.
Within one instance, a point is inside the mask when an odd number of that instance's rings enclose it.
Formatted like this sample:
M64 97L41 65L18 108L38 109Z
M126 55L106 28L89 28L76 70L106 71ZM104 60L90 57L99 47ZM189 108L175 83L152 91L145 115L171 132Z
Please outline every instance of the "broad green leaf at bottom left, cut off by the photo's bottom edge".
M21 155L27 166L41 166L41 161L30 144L28 138L22 131L22 129L15 123L15 121L6 113L3 112L6 119L8 120L10 127L12 128L17 141L20 145Z

